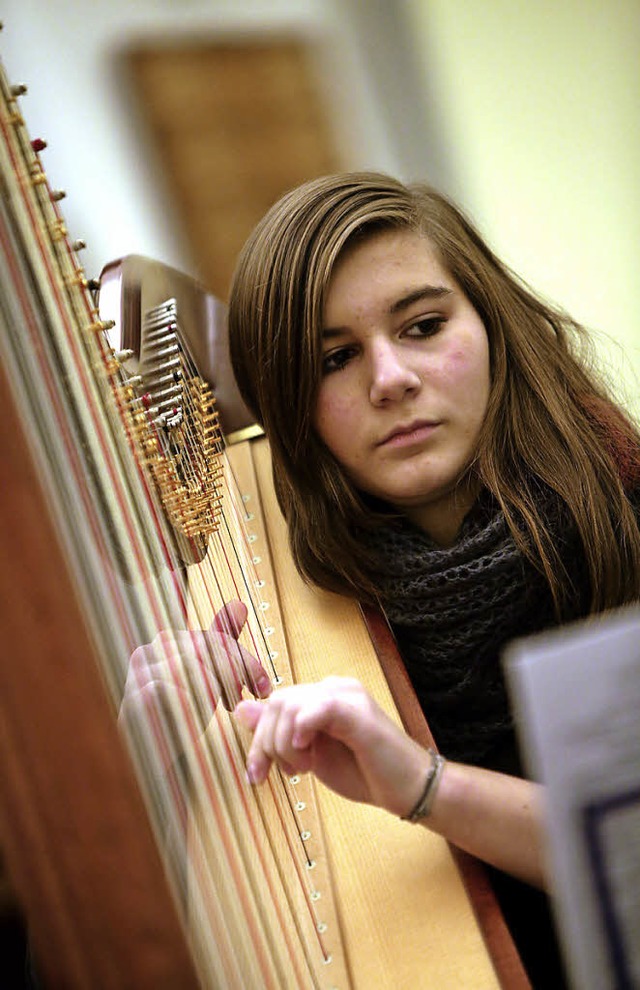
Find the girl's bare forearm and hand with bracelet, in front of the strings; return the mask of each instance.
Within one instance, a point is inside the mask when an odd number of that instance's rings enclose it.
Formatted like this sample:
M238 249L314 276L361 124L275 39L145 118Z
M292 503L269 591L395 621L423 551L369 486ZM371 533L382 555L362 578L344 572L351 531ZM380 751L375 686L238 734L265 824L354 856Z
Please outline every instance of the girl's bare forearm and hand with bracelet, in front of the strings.
M253 732L247 776L265 780L275 763L286 774L311 771L332 790L406 816L423 793L431 759L351 678L281 688L244 700L236 717ZM428 827L466 852L527 883L547 884L540 785L461 763Z

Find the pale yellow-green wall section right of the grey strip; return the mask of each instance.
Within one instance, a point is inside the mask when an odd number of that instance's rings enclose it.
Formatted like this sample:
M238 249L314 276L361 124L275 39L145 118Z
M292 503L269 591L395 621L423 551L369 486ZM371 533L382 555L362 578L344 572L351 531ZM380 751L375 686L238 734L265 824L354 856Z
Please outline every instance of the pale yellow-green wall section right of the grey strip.
M454 192L640 414L640 3L408 0Z

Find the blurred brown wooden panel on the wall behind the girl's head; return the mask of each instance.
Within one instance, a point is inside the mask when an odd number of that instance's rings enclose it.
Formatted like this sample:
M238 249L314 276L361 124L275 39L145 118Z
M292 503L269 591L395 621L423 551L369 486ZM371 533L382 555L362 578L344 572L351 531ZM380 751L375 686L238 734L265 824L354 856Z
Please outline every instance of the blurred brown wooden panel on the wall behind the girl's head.
M226 299L238 251L287 189L339 169L298 39L137 47L134 89L200 276Z

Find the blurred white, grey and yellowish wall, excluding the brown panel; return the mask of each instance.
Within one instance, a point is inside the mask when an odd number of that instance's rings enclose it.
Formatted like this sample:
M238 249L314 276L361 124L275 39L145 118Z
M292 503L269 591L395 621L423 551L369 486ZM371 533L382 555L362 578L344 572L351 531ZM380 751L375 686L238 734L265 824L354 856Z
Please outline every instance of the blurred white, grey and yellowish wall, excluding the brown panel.
M325 41L329 97L353 167L407 178L419 169L455 195L528 281L620 343L626 364L613 347L603 353L640 415L640 0L4 8L2 58L12 81L30 84L24 112L50 142L46 167L69 190L65 215L89 242L90 274L122 252L191 265L119 84L115 56L127 39L301 30Z

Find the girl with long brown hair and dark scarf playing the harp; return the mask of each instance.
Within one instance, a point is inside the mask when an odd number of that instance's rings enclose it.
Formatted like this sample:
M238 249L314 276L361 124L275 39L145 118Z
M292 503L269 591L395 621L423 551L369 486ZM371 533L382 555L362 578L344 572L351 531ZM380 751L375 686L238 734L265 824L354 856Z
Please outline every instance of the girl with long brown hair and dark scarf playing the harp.
M542 895L511 879L547 883L500 655L640 598L638 431L582 328L444 197L383 175L319 179L271 209L229 333L299 570L386 613L446 757L329 680L238 707L251 779L312 770L485 859L534 985L561 985L537 968Z

